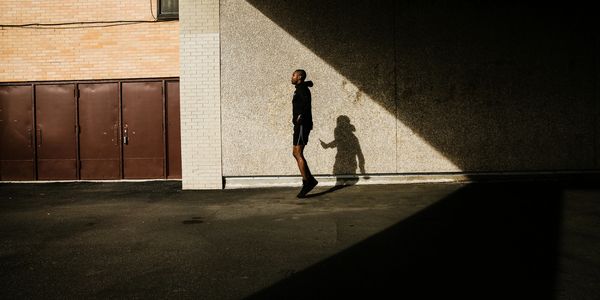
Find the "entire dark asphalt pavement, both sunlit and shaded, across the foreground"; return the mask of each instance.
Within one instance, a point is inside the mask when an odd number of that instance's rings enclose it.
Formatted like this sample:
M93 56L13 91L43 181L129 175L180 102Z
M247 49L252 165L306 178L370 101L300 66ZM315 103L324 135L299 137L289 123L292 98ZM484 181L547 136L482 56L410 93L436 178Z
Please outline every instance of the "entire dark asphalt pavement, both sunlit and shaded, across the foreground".
M0 184L1 299L598 299L600 181Z

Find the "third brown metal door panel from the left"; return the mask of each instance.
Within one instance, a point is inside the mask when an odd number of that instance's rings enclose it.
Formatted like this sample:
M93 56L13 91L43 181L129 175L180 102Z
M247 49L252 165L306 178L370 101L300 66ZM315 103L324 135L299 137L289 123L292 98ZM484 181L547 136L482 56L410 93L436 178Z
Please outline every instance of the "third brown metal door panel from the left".
M119 84L79 84L81 179L119 179Z

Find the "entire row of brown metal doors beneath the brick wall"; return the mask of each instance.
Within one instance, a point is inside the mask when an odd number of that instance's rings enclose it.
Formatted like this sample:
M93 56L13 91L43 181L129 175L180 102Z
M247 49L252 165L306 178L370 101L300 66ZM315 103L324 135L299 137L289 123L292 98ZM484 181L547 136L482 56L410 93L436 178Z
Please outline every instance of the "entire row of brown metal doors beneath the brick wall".
M0 83L0 180L179 179L179 81Z

